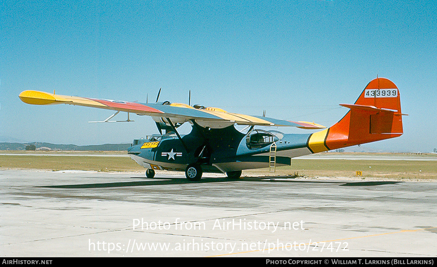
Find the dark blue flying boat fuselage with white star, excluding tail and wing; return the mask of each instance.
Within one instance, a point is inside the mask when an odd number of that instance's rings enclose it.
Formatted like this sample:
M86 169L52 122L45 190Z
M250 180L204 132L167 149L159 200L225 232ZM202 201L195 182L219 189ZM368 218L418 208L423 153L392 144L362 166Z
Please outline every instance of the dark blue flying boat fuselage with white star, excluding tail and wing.
M271 146L276 145L276 165L291 164L291 158L310 154L310 134L283 134L252 130L242 134L234 126L223 129L192 127L189 134L165 134L135 140L128 154L151 169L184 171L198 163L204 172L226 172L269 167Z

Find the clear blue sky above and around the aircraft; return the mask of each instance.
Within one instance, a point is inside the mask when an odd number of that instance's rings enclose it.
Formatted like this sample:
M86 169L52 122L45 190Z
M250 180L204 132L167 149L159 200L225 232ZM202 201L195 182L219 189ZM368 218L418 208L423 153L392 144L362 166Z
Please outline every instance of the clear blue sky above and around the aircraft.
M86 145L157 133L150 117L90 124L112 113L24 104L28 89L145 102L162 87L160 100L185 103L191 90L192 104L331 126L378 75L409 116L403 136L361 148L433 151L435 14L434 1L2 1L0 137Z

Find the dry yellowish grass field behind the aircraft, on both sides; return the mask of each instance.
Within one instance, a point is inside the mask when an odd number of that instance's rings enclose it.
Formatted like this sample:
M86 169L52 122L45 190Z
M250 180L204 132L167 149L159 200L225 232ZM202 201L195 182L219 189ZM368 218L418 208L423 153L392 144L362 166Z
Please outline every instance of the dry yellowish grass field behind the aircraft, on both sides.
M93 170L143 172L119 151L0 151L0 169ZM417 158L416 158L417 159ZM356 176L361 171L361 176ZM437 161L420 160L338 160L293 159L289 167L243 171L243 176L275 175L304 178L394 179L405 181L437 180Z

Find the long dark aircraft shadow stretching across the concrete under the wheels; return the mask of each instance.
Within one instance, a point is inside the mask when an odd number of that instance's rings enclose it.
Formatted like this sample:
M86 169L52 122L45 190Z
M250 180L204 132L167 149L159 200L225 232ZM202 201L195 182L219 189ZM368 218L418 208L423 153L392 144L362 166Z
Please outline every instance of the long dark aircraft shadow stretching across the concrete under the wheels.
M169 184L210 184L210 183L230 183L230 182L338 184L339 186L376 186L376 185L403 183L403 182L396 182L396 181L373 181L373 182L302 181L302 180L291 179L288 176L244 177L243 179L202 178L201 181L199 182L190 182L185 178L173 178L173 177L170 178L155 177L153 179L148 179L145 177L131 177L131 178L147 179L147 181L98 183L98 184L44 185L44 186L35 186L35 187L81 189L81 188L111 188L111 187L133 187L133 186L151 186L151 185L156 186L156 185L169 185Z

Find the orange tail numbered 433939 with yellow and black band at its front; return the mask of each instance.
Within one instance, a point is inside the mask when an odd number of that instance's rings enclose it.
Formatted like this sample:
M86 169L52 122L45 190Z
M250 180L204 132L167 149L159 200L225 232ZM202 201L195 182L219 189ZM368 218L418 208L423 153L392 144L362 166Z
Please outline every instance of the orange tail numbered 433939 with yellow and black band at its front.
M399 89L388 79L372 80L354 104L341 105L350 108L350 111L329 129L312 134L310 145L312 141L314 145L318 144L312 149L313 152L365 144L403 134Z

